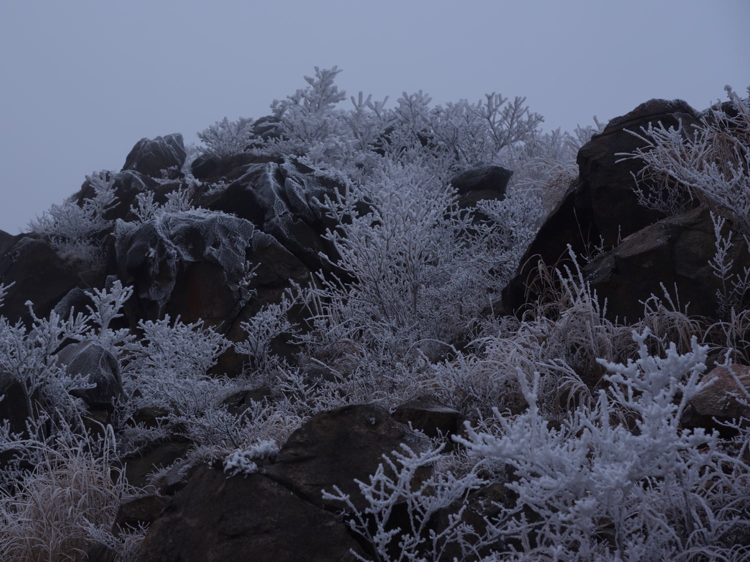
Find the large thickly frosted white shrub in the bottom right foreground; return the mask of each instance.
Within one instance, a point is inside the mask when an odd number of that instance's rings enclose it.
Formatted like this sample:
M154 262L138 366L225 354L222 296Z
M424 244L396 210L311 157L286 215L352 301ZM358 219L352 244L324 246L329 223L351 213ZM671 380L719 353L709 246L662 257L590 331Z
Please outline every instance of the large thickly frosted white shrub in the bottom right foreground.
M665 357L646 349L648 330L633 333L637 360L602 364L610 385L593 408L581 406L559 428L538 408L539 376L518 371L529 409L496 411L496 429L456 438L480 458L513 469L505 486L514 507L502 507L495 532L527 558L739 560L735 543L750 521L743 499L748 468L721 451L716 435L679 427L687 401L704 387L707 348ZM613 423L633 414L634 427Z

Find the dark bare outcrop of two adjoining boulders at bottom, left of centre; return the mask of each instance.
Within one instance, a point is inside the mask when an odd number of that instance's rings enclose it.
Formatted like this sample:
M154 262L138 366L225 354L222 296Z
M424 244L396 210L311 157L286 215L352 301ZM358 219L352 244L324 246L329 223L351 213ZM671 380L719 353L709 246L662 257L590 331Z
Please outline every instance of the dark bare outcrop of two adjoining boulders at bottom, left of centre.
M364 552L333 515L347 506L322 492L338 486L364 509L354 479L366 481L401 444L419 453L429 442L380 405L353 405L311 417L257 474L227 478L198 466L151 526L138 560L354 560L350 549Z

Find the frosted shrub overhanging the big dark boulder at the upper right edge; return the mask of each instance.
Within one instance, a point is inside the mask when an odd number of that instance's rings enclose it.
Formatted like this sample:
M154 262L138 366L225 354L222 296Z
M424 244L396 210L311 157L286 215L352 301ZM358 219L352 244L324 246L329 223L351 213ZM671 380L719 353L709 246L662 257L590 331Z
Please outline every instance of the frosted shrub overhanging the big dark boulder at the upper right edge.
M640 133L643 147L623 159L643 160L640 176L652 178L649 193L637 189L640 202L669 214L684 211L692 199L707 202L730 214L738 228L750 234L750 98L724 88L731 109L721 105L706 110L700 124L689 130L649 124ZM750 93L750 88L748 88Z

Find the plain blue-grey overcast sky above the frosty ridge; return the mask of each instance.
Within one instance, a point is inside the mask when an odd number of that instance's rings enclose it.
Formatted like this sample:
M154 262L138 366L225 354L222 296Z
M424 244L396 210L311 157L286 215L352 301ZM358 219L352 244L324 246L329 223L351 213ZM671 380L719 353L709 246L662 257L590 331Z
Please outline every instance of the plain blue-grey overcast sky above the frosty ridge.
M0 229L142 137L260 117L337 64L348 94L526 96L545 127L750 85L750 0L2 0Z

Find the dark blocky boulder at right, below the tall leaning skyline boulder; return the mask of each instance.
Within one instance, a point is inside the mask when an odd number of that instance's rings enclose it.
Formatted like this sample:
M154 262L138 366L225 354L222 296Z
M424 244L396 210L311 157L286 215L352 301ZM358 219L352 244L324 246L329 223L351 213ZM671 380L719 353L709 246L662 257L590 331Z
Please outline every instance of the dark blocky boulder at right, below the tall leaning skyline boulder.
M748 248L741 235L734 234L727 261L732 273L750 265ZM628 236L619 246L594 259L583 274L601 301L607 299L607 316L629 322L643 317L643 304L651 294L661 294L663 283L672 297L676 288L679 302L689 314L717 317L716 293L721 280L709 265L716 253L716 238L709 211L694 209L660 220Z

